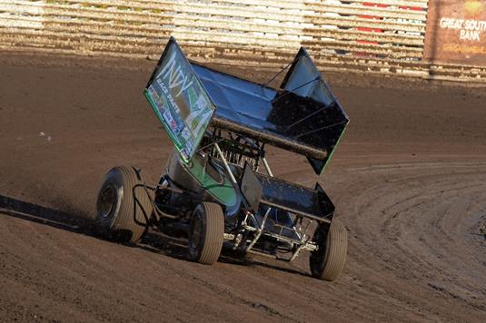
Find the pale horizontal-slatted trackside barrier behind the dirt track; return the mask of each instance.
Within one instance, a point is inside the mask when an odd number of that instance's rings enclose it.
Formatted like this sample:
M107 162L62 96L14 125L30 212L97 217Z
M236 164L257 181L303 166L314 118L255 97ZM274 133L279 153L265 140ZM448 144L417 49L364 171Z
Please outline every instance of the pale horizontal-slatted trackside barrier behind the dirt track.
M169 35L198 61L282 68L304 45L327 70L486 80L422 61L427 1L0 0L0 49L158 58Z

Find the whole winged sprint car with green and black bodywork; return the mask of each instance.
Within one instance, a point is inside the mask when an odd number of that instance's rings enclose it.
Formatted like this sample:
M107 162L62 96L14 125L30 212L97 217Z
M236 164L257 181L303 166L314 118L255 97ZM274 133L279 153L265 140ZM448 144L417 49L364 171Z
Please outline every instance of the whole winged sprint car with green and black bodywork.
M106 174L96 216L104 231L129 242L149 229L187 239L187 258L203 264L223 248L284 261L308 250L312 276L336 279L347 230L332 201L319 183L273 177L265 152L302 154L320 175L349 120L304 48L289 66L273 89L190 63L171 38L144 95L174 151L157 184L134 167Z

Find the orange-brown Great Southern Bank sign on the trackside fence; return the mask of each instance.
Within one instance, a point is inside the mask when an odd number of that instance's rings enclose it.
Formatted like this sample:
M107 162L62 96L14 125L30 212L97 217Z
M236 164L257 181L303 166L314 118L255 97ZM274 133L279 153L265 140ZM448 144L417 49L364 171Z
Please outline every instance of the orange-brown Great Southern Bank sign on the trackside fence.
M424 59L486 65L486 0L431 0Z

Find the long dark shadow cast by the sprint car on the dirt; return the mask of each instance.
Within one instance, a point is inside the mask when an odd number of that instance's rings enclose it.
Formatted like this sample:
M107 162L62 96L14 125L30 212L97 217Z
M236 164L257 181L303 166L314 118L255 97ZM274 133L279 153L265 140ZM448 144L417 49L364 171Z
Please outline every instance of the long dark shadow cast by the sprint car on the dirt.
M0 213L1 215L5 214L13 218L32 221L60 230L84 234L100 240L109 240L105 238L104 232L98 228L94 219L90 219L85 214L82 214L82 212L75 210L69 212L55 210L0 194ZM186 241L174 240L152 230L147 232L143 243L124 244L124 246L161 253L175 259L186 259L187 253ZM241 256L235 256L233 252L229 250L223 250L223 254L219 261L236 266L258 266L291 274L309 276L298 269L283 268L254 258L244 259Z

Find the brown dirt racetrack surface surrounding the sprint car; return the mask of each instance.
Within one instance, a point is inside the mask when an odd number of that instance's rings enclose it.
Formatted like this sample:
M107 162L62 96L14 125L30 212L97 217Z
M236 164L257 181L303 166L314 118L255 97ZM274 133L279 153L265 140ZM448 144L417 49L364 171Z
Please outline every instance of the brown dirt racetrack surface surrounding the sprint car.
M269 158L321 181L350 232L328 283L307 257L207 267L98 237L104 172L155 181L170 149L142 95L153 67L0 58L0 321L486 321L484 88L329 75L352 123L326 174Z

